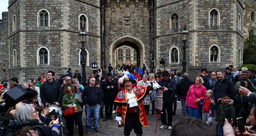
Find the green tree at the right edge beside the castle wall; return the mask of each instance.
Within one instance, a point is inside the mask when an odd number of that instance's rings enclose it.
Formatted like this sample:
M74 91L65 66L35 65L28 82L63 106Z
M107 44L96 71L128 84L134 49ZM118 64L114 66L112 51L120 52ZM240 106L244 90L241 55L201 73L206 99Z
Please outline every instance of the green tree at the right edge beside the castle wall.
M256 65L256 35L251 34L244 40L244 64Z

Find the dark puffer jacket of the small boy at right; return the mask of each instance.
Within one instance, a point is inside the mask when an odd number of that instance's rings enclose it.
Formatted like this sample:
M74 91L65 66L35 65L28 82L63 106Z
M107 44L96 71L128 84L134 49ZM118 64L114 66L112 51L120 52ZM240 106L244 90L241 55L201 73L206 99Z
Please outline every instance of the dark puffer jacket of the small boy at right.
M235 120L236 119L236 110L235 107L233 106L234 101L233 99L230 99L229 104L225 105L224 102L221 102L219 105L217 115L215 117L215 121L218 122L220 125L224 125L225 122L225 109L230 109L230 116L231 119ZM232 126L235 124L233 123Z

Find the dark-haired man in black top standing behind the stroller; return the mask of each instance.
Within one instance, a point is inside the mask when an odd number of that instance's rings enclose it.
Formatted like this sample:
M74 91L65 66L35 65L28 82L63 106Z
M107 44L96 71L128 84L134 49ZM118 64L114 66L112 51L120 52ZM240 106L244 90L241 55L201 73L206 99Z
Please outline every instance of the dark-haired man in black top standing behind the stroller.
M60 105L62 102L62 90L60 82L54 80L53 71L47 72L47 80L43 83L40 90L40 97L44 105L55 103Z

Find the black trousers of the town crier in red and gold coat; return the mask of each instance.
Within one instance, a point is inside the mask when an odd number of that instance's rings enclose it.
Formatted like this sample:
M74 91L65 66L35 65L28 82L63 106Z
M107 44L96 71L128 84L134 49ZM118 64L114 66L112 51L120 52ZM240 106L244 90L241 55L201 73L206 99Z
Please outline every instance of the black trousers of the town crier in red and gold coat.
M134 133L137 135L142 135L142 125L140 123L139 112L136 113L126 113L125 116L125 131L124 135L129 136L131 130L134 129Z

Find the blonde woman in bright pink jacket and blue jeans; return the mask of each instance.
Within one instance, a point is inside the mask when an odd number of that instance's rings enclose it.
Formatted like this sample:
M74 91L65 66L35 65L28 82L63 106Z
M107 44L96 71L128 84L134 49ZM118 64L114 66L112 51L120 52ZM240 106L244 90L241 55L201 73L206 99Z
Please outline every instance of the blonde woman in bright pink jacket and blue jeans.
M195 78L195 85L191 85L186 97L186 105L189 108L189 116L200 119L200 109L198 102L206 96L206 88L202 85L204 80L202 77Z

